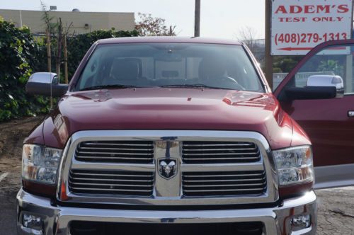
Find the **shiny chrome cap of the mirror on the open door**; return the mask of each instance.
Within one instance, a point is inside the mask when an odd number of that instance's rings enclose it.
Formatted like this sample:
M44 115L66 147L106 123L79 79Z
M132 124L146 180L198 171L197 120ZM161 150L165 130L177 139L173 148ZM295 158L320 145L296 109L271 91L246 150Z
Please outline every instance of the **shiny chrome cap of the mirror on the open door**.
M307 79L307 86L334 86L336 87L336 98L344 96L344 83L338 75L312 75Z

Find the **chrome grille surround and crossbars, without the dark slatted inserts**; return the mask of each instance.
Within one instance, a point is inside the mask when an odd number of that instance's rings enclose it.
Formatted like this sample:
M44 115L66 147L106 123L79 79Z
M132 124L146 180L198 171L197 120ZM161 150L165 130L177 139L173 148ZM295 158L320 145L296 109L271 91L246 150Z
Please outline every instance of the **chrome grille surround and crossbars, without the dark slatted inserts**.
M70 169L110 169L120 171L156 171L156 161L165 157L164 147L156 147L159 141L171 140L171 158L181 161L181 146L183 141L228 141L228 142L252 142L258 146L261 160L247 164L183 164L177 169L175 177L166 180L155 173L155 187L152 197L121 196L121 195L91 195L71 193L68 188ZM135 140L153 141L154 163L153 164L114 164L92 163L77 161L74 158L76 146L80 142L95 140ZM160 143L161 144L161 143ZM263 168L264 166L264 168ZM264 170L267 179L267 188L263 195L240 195L240 196L207 196L185 197L182 195L181 173L190 171L259 171ZM174 180L174 181L173 181ZM239 131L204 131L204 130L99 130L80 131L72 135L65 147L60 171L57 180L57 200L61 200L61 183L65 184L67 202L108 203L124 205L236 205L275 202L278 200L278 176L273 164L273 156L265 137L258 132ZM161 185L161 186L160 186Z

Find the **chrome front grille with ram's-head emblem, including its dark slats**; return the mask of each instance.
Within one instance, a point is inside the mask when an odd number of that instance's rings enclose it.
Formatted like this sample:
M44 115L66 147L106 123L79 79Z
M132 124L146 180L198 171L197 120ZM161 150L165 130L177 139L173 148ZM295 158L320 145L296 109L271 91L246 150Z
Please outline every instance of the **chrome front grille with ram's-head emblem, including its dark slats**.
M72 135L58 199L124 205L278 200L270 147L256 132L103 130ZM63 187L64 185L64 187Z

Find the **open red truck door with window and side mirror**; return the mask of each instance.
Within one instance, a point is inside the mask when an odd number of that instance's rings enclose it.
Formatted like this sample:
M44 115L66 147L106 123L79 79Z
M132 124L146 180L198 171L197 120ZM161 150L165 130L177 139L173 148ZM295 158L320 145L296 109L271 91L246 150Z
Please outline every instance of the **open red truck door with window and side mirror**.
M274 94L313 144L315 188L354 185L354 40L309 52Z

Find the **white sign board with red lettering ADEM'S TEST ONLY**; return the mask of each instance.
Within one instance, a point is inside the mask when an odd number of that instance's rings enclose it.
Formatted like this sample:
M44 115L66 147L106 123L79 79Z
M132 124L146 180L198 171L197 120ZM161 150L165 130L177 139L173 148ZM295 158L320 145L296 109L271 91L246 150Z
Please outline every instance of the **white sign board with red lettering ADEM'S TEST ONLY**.
M272 55L306 55L329 40L350 39L352 0L273 0Z

